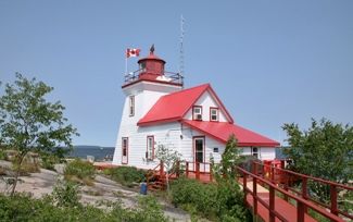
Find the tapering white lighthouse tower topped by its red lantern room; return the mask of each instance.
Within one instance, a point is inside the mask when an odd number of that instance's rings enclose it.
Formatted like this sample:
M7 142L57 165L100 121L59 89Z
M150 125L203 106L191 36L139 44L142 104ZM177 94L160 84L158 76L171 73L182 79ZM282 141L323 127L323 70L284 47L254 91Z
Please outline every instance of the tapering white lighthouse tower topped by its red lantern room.
M146 150L147 143L152 147L154 139L149 139L149 133L141 132L137 123L160 97L182 89L182 76L165 72L165 61L154 54L154 46L147 58L138 61L138 65L137 71L125 76L122 86L125 102L113 157L114 165L143 168L146 159L152 155Z

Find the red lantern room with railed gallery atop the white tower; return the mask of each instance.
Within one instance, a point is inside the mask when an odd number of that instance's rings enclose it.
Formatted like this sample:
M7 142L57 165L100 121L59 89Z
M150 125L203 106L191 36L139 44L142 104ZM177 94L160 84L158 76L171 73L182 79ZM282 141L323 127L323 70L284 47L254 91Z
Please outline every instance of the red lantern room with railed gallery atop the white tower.
M125 76L123 88L141 81L177 85L181 87L184 85L182 76L179 73L166 72L164 70L165 61L154 54L154 45L152 45L150 49L150 54L140 59L138 64L139 69L137 71Z

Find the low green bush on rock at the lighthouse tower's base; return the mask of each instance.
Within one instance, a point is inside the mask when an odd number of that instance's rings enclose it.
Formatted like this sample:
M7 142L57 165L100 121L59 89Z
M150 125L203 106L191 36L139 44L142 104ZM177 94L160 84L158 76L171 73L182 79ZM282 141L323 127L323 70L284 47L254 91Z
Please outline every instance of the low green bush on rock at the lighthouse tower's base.
M119 166L109 169L104 172L112 180L121 183L124 186L134 186L134 183L139 183L144 180L146 172L134 166Z

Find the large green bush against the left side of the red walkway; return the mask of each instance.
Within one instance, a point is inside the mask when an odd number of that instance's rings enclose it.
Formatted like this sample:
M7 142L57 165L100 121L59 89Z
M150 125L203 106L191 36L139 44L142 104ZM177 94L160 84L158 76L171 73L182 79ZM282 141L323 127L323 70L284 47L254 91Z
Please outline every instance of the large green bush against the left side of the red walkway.
M232 184L202 184L179 178L172 183L172 202L215 221L245 221L241 192Z

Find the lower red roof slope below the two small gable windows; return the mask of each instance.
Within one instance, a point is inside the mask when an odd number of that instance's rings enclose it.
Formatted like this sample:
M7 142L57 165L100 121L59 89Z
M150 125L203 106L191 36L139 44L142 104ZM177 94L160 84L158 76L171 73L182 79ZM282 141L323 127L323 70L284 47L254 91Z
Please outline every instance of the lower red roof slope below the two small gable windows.
M249 147L249 146L259 146L259 147L277 147L279 146L278 141L264 137L260 134L256 134L252 131L243 128L239 125L225 122L206 122L206 121L190 121L182 120L182 123L186 125L198 130L209 136L222 141L227 143L229 136L235 134L238 139L238 146Z

